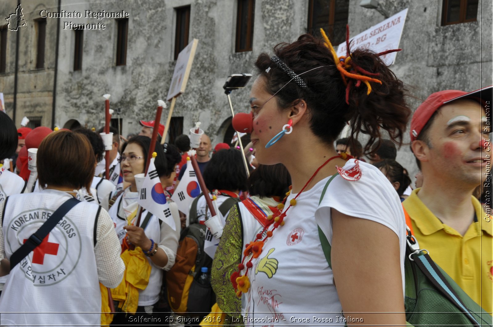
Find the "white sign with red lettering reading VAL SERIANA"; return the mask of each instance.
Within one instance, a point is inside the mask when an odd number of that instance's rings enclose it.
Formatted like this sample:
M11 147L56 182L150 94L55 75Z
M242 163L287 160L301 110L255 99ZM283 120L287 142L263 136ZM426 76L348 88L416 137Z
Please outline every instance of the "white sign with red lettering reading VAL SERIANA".
M404 22L406 21L407 8L383 22L372 26L368 30L352 37L352 50L356 48L370 49L376 53L387 50L397 49L399 47ZM337 56L346 55L346 42L339 44ZM392 52L380 58L386 65L392 65L395 61L397 52Z

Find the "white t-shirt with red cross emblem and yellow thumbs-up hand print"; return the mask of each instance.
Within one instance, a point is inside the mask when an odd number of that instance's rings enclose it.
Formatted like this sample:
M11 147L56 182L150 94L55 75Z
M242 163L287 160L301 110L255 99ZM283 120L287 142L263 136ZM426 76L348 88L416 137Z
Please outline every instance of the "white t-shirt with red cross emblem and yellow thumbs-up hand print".
M332 241L331 207L383 224L398 235L404 289L405 218L400 200L378 168L359 164L361 178L347 181L336 176L320 205L320 195L330 176L300 194L297 204L287 212L285 225L265 242L261 255L252 261L253 267L248 271L251 286L246 295L247 326L341 325L342 307L317 228L318 223ZM350 160L344 169L353 166L354 160ZM286 203L295 196L288 196Z

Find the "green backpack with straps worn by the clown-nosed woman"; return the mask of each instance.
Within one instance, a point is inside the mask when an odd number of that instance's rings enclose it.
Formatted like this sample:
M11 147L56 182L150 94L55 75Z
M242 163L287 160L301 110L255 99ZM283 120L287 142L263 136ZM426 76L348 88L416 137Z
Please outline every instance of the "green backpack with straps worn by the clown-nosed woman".
M333 175L323 188L322 201ZM490 326L493 317L467 295L430 256L420 250L418 242L407 229L404 259L406 321L415 326ZM318 236L329 267L331 246L318 227ZM426 250L424 250L426 251ZM413 259L411 259L413 258Z

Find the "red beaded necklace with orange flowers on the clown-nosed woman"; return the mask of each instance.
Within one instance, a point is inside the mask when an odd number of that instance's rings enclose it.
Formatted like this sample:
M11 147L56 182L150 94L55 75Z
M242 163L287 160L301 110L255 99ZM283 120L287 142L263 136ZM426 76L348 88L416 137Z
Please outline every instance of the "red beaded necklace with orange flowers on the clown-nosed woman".
M233 272L230 277L231 283L233 284L237 296L241 296L242 293L248 292L248 289L250 288L250 281L248 280L247 277L248 270L253 266L252 260L258 258L262 253L262 247L264 246L265 241L269 237L272 237L272 232L275 229L284 225L284 217L286 217L286 212L289 210L289 208L291 208L291 206L296 205L296 198L305 190L308 184L310 184L312 179L314 179L314 177L317 175L318 171L327 163L329 163L331 160L336 158L342 158L344 160L347 160L347 159L351 159L352 157L350 155L347 155L346 153L342 153L341 155L329 158L325 163L322 163L322 165L317 168L317 170L312 175L312 177L310 177L310 179L306 182L305 186L303 186L300 192L298 192L298 194L289 201L289 206L287 207L287 209L284 210L284 212L281 212L281 210L284 208L284 204L286 203L287 197L291 193L291 186L290 186L289 192L286 193L286 196L284 197L282 203L278 204L277 212L267 216L267 220L269 221L269 223L262 229L261 232L259 232L255 236L255 240L253 242L250 242L245 245L244 257L242 262L238 265L238 271ZM264 239L262 239L262 235L271 225L273 225L272 223L274 223L274 227L272 228L272 230L268 230L266 236L264 237ZM251 256L249 256L250 254ZM247 262L245 264L246 260ZM241 271L245 269L245 266L246 266L245 274L241 275Z

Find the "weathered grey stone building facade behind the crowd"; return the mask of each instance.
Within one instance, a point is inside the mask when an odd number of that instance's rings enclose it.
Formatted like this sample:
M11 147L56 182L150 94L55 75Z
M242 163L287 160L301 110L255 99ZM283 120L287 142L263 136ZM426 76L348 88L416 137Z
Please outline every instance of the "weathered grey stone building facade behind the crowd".
M4 1L4 0L2 0ZM361 0L334 0L348 7L351 35L383 21L378 10L360 6ZM341 2L342 1L342 2ZM15 3L0 6L2 17ZM183 117L183 131L202 122L212 143L229 141L231 112L222 86L228 75L252 73L261 52L272 53L279 42L289 42L308 31L310 0L256 0L253 13L251 51L235 52L237 0L118 0L80 4L60 0L68 12L81 12L81 18L46 18L44 68L34 66L36 25L40 10L56 12L58 1L22 3L30 25L19 32L8 31L7 69L0 74L7 113L13 113L15 45L19 35L17 103L15 120L41 116L42 125L70 127L77 124L100 127L104 122L103 94L111 95L111 108L121 110L122 133L138 132L141 119L154 118L157 99L166 98L175 67L177 9L190 6L188 41L199 40L186 91L177 98L174 117ZM492 2L477 1L476 20L442 26L443 0L379 0L380 8L391 16L408 8L404 31L392 70L409 88L409 104L415 109L421 99L442 89L472 91L492 85ZM472 1L474 2L474 1ZM5 3L5 2L3 2ZM37 4L36 4L37 3ZM12 7L12 8L11 8ZM85 18L92 12L129 13L126 64L115 65L118 20ZM75 31L73 24L105 24L104 30L84 30L82 69L74 70ZM56 62L57 26L58 61ZM57 80L54 83L55 67ZM234 91L236 112L248 111L250 81L245 89ZM55 86L56 85L56 86ZM55 100L54 121L53 100ZM162 122L166 121L164 111ZM409 141L406 134L404 141ZM397 160L416 171L414 157L403 146Z

